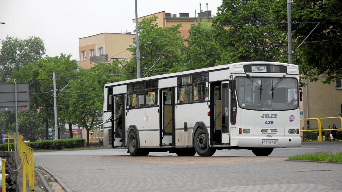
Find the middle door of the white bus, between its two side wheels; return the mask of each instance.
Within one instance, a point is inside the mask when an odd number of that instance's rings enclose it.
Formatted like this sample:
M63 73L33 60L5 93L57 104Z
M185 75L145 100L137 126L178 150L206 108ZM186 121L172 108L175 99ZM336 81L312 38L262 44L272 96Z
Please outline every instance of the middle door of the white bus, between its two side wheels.
M160 147L174 146L174 89L162 89Z

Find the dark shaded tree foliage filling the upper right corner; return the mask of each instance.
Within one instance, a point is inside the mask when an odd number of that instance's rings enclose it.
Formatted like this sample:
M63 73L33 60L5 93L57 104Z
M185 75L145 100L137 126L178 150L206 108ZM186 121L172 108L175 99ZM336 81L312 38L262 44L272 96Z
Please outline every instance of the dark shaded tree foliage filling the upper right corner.
M282 4L286 3L282 0ZM295 0L292 5L294 47L321 22L298 48L305 55L300 68L310 80L323 77L323 83L342 78L342 3L338 0Z

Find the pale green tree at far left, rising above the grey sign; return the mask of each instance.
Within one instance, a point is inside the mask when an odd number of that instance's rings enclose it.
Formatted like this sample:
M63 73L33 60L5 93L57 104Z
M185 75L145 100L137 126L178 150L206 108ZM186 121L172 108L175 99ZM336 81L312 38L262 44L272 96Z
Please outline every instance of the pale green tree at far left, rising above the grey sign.
M38 61L45 54L43 41L38 37L30 37L25 40L7 36L1 42L0 49L0 83L6 83L11 77L12 71Z

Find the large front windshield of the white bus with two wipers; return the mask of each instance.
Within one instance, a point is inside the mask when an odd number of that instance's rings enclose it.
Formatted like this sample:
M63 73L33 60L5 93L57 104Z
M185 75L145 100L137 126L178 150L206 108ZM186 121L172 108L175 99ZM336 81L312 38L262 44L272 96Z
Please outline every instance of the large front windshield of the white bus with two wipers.
M298 81L282 77L236 77L237 100L241 108L291 110L298 108Z

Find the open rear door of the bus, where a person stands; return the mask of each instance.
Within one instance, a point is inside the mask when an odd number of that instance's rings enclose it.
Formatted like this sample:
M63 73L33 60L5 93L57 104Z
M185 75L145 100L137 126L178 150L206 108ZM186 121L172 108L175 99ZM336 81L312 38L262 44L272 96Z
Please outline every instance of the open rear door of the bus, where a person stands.
M117 102L119 100L119 98L121 98L121 102ZM112 109L111 109L111 116L113 117L116 117L117 114L119 113L117 111L118 107L117 105L121 104L122 106L122 118L121 118L121 128L122 128L122 137L120 136L119 134L119 130L117 129L118 128L118 122L119 120L117 121L111 121L111 133L114 133L114 134L111 134L111 140L112 140L112 146L113 148L117 148L117 147L124 147L126 146L126 143L125 143L125 94L120 94L120 95L112 95L111 97L111 100L112 100ZM120 123L121 123L120 122ZM122 141L120 141L122 138Z

